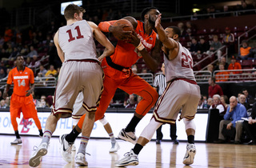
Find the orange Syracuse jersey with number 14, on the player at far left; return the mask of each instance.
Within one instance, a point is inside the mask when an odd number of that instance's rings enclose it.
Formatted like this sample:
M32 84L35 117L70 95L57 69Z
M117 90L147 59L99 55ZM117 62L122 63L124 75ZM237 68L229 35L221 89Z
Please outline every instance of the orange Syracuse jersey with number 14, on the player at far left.
M20 71L15 67L13 70L10 70L7 84L11 85L12 82L14 82L14 94L25 96L26 90L30 90L30 83L34 83L34 73L28 67Z

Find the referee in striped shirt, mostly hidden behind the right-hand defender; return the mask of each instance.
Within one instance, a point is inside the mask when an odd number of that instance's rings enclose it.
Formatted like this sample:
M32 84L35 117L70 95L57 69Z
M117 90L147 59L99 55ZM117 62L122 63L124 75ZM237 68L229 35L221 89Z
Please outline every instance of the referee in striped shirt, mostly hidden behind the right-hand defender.
M158 74L154 78L154 89L158 91L159 98L162 93L166 89L166 76L165 76L165 64L162 63L162 74ZM157 130L157 140L156 144L160 144L162 140L162 125ZM170 125L170 138L174 142L174 144L178 144L177 135L176 135L176 123L174 125Z

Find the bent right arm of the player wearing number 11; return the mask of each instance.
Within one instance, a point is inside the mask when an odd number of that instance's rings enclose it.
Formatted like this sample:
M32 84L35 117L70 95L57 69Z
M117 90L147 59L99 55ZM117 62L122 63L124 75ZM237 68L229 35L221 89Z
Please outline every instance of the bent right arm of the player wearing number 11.
M103 58L110 56L111 54L114 53L114 46L109 41L109 39L106 38L105 34L102 33L102 31L98 28L98 26L94 22L88 22L88 24L90 25L91 29L93 30L94 38L102 46L106 47L104 52L102 53L102 55L98 58L101 61Z

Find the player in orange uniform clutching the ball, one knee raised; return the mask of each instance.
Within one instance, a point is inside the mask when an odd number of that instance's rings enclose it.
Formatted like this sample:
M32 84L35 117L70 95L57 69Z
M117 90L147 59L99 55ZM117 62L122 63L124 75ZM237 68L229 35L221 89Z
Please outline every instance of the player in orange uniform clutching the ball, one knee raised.
M137 137L134 134L135 127L138 122L146 115L155 102L158 100L158 93L148 82L133 74L130 66L134 65L139 58L143 58L150 70L157 70L160 58L160 42L158 35L154 32L154 22L158 18L159 11L154 8L146 8L142 11L142 20L140 22L132 17L125 17L134 26L132 34L122 30L124 25L111 26L115 21L100 22L98 27L104 32L114 34L118 39L130 39L129 43L118 40L114 54L102 60L102 68L105 73L103 82L104 90L98 109L95 113L95 121L103 118L111 99L117 88L120 88L128 94L138 94L142 97L142 101L138 103L134 117L125 129L118 134L123 140L136 143ZM151 55L149 52L151 51ZM78 125L68 134L69 138L78 137L78 132L82 128L83 119L80 118ZM77 128L79 127L79 128ZM67 140L67 139L66 139Z

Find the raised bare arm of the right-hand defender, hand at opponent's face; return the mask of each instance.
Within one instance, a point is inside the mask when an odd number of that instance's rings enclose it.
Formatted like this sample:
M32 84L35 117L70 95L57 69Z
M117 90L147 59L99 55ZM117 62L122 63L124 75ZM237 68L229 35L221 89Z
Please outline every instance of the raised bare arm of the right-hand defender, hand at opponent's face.
M158 30L158 38L162 42L163 46L166 47L168 50L174 50L175 48L178 49L178 43L175 42L174 39L168 38L165 30L162 28L161 25L161 15L158 15L157 20L155 21L155 28ZM174 59L177 54L169 54L169 59Z

